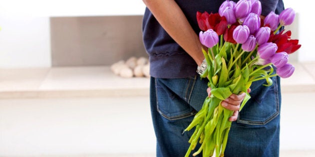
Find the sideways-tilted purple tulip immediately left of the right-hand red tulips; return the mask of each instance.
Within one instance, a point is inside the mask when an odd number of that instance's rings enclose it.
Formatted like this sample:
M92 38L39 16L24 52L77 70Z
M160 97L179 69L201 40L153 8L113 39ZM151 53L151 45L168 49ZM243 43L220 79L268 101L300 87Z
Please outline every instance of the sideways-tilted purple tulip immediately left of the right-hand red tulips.
M275 54L275 51L278 49L275 43L266 42L260 45L257 49L259 57L265 60L269 60Z

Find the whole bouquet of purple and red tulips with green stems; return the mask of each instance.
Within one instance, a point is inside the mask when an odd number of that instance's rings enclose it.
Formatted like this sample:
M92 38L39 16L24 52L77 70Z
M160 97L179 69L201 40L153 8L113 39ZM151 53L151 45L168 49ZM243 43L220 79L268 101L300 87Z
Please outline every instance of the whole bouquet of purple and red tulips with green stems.
M294 66L287 63L288 54L301 45L290 39L290 31L278 32L293 22L294 10L287 8L279 15L270 12L264 20L260 13L259 0L226 0L218 13L197 12L200 42L207 47L202 48L207 69L201 78L208 78L211 97L205 98L185 129L195 127L186 157L198 142L201 146L193 156L202 152L203 157L211 157L215 152L216 157L223 157L231 126L228 118L233 111L223 108L222 100L231 94L246 93L241 110L250 99L247 89L252 82L264 79L265 86L269 86L271 77L287 78L294 72Z

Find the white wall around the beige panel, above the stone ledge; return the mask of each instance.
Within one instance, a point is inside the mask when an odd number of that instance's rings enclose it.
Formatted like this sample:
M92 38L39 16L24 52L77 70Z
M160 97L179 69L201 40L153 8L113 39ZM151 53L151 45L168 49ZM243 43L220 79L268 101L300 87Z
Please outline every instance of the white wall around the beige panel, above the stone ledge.
M315 61L313 5L284 2L300 15L298 60ZM142 0L0 0L0 68L51 66L49 16L139 15L144 8Z

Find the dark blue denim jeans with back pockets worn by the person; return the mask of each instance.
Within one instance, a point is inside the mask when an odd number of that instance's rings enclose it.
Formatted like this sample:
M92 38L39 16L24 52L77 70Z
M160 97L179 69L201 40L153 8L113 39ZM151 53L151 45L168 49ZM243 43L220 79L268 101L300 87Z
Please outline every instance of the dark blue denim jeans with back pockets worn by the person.
M225 157L278 157L280 82L278 77L272 81L273 85L269 87L262 86L264 81L251 85L251 99L237 121L232 123ZM180 79L151 77L150 105L156 157L184 157L194 130L182 132L201 109L207 97L206 88L207 80L198 76Z

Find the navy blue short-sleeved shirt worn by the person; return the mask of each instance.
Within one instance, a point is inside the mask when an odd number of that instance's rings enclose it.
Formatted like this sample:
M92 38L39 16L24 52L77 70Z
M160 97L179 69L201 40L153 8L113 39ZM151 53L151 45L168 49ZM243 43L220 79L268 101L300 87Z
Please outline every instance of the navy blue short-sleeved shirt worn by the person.
M196 34L200 32L196 12L218 11L225 0L175 0ZM235 2L237 0L234 0ZM284 9L282 0L260 0L262 15ZM176 18L176 17L174 17ZM184 78L195 76L197 64L162 28L148 8L142 23L143 43L149 55L150 75L155 78ZM200 51L201 53L201 51Z

